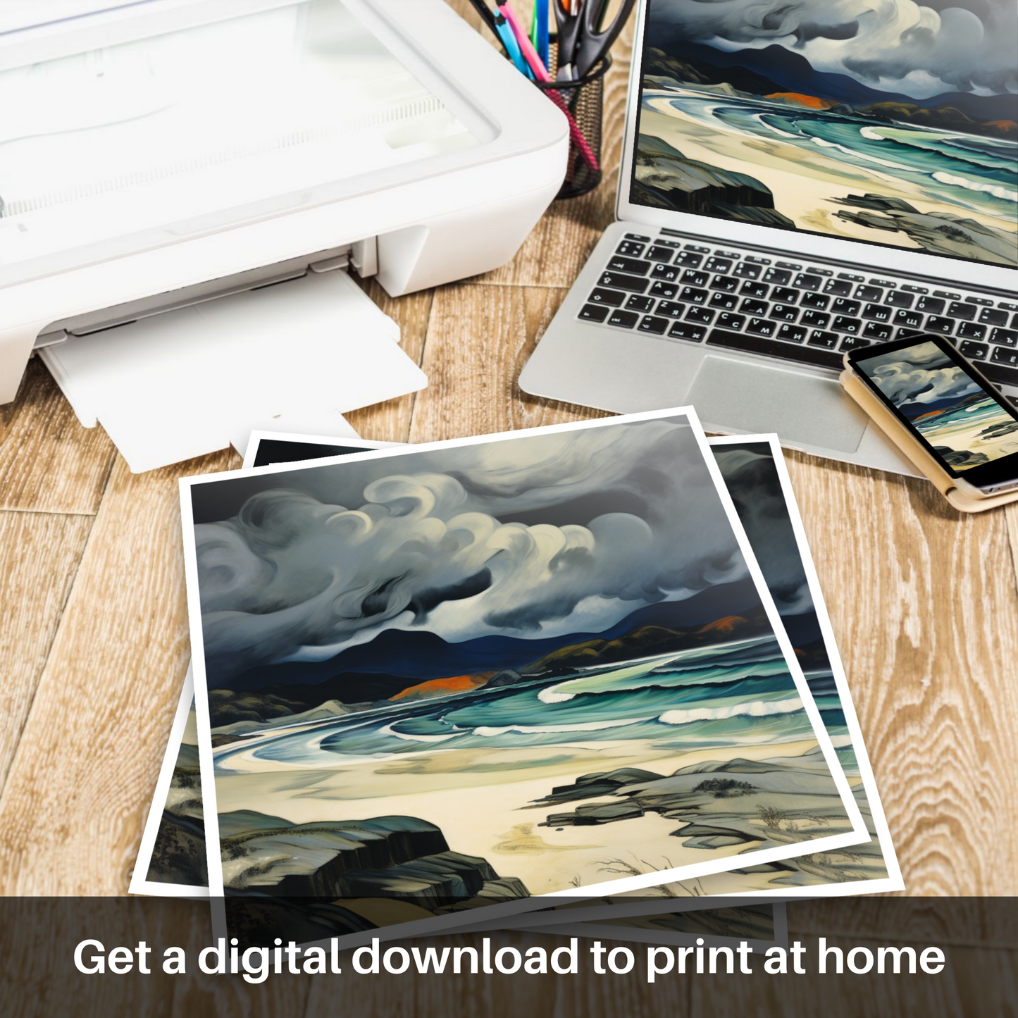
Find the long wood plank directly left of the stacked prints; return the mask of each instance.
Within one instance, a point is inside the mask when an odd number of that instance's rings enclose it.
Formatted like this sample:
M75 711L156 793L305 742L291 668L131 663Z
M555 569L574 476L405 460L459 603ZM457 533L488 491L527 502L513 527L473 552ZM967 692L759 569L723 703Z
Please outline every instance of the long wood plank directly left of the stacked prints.
M124 894L189 646L177 477L117 458L0 795L0 894Z

